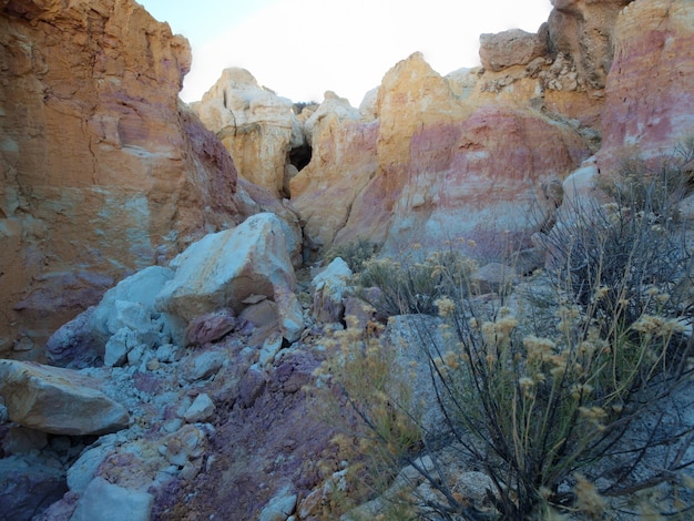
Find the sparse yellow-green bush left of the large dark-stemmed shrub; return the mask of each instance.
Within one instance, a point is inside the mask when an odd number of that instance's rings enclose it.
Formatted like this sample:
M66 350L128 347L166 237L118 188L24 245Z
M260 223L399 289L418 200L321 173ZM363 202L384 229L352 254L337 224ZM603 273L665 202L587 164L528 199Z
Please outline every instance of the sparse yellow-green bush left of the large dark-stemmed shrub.
M359 329L353 317L347 324L345 330L328 338L331 356L318 370L327 384L323 401L328 421L339 420L334 443L350 461L346 474L349 494L336 501L333 515L387 490L402 458L416 453L421 441L416 389L408 384L407 368L398 364L399 354L381 344L382 326L370 323L368 330ZM406 519L406 510L409 504L405 500L391 498L390 514L382 519Z

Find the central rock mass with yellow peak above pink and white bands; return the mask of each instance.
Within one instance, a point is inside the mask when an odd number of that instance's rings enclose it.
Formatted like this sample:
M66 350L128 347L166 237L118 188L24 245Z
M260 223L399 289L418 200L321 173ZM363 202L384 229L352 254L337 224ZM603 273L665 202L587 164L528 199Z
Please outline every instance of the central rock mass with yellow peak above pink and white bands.
M389 251L462 235L497 248L504 232L533 229L528 212L548 210L543 184L590 155L585 141L530 109L522 90L508 103L513 85L494 94L451 81L412 54L384 78L375 121L326 119L318 137L314 129L314 159L292 185L306 235Z

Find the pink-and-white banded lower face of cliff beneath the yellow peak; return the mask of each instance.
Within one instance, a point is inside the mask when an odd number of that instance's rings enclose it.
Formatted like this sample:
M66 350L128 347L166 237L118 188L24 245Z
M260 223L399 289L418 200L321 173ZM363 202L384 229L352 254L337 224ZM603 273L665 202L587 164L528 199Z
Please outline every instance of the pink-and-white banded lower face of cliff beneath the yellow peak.
M416 134L387 248L465 237L488 256L522 244L541 224L537 216L553 210L542 187L589 154L572 129L500 105Z

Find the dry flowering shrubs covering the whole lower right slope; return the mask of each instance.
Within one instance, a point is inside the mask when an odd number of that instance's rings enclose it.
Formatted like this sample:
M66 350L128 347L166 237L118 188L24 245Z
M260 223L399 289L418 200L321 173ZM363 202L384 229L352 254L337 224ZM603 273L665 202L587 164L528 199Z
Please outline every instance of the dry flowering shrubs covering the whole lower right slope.
M436 462L445 440L493 483L489 504L471 505L445 470L422 469L436 494L415 500L418 515L612 519L618 504L626 517L691 515L694 428L678 411L692 403L676 395L693 370L691 259L675 210L684 187L663 172L636 184L624 173L610 204L563 208L547 238L550 269L527 285L543 298L518 289L477 298L474 264L453 251L365 265L360 280L380 288L381 311L438 313L438 334L412 320L412 335L443 418L442 430L417 422L415 435L405 391L391 397L378 384L394 366L369 375L361 367L380 351L343 350L333 377L371 432L365 449L392 454L382 431L405 418L410 450L392 464L419 470L425 453Z

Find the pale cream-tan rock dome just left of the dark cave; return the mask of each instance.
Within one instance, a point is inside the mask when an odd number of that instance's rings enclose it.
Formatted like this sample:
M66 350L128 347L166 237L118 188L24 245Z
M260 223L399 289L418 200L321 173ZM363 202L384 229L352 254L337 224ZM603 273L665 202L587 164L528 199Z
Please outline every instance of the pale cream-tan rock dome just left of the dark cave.
M241 175L275 196L288 195L289 153L304 144L290 100L262 88L245 69L229 68L192 106L224 143Z

